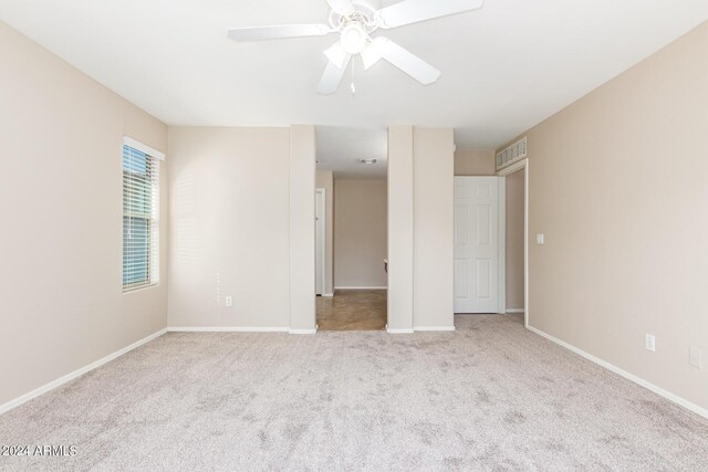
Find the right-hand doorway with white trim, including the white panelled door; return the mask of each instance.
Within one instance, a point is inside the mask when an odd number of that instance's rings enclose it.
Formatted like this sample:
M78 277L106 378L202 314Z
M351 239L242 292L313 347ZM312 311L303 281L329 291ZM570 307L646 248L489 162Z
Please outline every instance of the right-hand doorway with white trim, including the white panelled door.
M528 325L528 160L455 177L455 313L513 314Z

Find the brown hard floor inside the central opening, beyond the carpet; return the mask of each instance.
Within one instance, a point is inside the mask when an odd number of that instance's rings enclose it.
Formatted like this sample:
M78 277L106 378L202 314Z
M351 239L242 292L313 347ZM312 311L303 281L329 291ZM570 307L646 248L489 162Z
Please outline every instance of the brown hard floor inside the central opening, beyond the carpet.
M320 331L381 331L386 327L385 290L337 290L316 297Z

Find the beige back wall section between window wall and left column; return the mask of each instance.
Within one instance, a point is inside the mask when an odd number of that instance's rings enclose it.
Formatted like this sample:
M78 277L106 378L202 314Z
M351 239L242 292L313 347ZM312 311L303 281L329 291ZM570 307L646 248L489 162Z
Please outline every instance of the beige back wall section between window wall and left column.
M169 149L169 325L289 327L289 129L170 127Z

